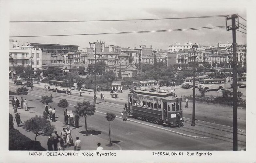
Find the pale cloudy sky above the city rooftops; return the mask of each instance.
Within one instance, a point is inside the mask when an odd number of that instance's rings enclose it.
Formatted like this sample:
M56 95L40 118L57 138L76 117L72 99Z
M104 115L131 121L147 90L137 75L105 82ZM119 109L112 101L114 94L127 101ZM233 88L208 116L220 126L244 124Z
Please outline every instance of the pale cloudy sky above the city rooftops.
M118 20L152 19L191 16L239 14L246 19L243 3L231 6L230 1L12 1L10 21L63 21L63 20ZM224 8L225 7L225 8ZM231 22L231 21L230 21ZM246 25L246 22L239 19ZM225 17L154 21L119 22L44 22L10 23L10 36L64 35L107 33L144 30L167 30L226 25ZM243 29L240 29L246 32ZM17 37L19 41L89 47L89 42L105 41L106 45L137 47L146 45L153 49L168 50L169 44L188 40L200 45L217 45L232 42L232 31L222 29L190 30L160 33L117 35ZM237 32L237 43L246 44L246 35Z

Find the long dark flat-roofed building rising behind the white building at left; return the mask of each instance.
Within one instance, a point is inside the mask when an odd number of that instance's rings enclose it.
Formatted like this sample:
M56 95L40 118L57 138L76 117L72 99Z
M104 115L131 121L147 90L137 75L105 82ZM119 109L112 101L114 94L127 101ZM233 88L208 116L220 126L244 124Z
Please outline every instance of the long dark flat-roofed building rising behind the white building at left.
M59 44L41 44L41 43L30 43L36 49L41 49L42 52L52 54L66 54L68 52L78 51L77 45L59 45Z

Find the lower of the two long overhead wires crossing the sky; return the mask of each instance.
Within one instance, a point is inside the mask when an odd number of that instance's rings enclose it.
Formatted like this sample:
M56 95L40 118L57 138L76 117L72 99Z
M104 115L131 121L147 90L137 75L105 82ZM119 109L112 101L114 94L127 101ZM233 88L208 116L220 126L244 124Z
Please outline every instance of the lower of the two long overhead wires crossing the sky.
M10 36L10 37L50 37L50 36L84 36L84 35L112 35L112 34L129 34L129 33L153 33L153 32L172 32L185 30L201 30L201 29L216 29L226 28L226 26L211 26L211 27L196 27L184 29L168 29L168 30L151 30L151 31L130 31L130 32L110 32L110 33L90 33L90 34L70 34L70 35L38 35L38 36Z

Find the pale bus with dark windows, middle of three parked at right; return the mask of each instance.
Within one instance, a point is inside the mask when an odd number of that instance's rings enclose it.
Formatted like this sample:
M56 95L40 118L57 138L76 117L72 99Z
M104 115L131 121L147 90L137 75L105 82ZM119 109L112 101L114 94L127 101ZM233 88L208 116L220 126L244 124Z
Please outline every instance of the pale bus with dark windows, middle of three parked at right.
M198 82L198 89L204 89L205 91L211 89L222 90L225 88L226 79L204 79Z

